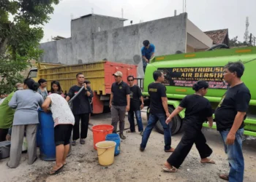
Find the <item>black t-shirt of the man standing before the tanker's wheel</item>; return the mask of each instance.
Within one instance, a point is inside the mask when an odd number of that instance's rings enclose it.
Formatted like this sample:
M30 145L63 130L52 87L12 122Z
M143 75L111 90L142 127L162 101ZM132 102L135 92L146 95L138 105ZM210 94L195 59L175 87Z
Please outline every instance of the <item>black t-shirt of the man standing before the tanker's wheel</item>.
M148 84L148 93L150 96L150 113L165 114L165 108L162 106L162 98L166 98L165 85L160 83Z

